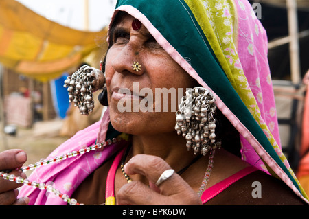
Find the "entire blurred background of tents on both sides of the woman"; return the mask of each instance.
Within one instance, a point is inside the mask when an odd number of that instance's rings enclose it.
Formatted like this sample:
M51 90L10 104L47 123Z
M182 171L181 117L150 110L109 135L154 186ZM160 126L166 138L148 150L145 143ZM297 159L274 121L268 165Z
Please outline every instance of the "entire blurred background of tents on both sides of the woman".
M309 1L249 2L268 34L282 148L309 187ZM99 68L115 3L0 1L0 152L22 148L27 164L35 163L100 119L98 102L88 117L80 115L63 82L81 65Z

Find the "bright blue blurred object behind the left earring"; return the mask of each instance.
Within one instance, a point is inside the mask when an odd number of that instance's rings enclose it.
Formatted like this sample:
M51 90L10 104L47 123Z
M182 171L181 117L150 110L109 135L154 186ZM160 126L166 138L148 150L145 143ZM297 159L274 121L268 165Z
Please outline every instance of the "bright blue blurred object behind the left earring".
M68 73L64 73L60 78L50 82L54 108L57 115L62 119L67 116L67 110L70 105L67 88L63 87L68 76Z

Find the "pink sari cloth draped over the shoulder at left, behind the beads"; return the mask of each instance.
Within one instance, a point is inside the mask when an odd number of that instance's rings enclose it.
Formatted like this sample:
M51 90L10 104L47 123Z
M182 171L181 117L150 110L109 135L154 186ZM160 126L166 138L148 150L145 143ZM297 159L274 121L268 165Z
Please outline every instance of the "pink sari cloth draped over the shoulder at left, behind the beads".
M104 133L104 136L101 135L101 138L105 139L108 127L106 124L108 123L109 112L106 110L102 122L96 122L92 126L76 133L75 136L56 148L47 159L52 159L74 150L78 151L80 148L95 144L98 133ZM126 141L121 141L106 146L102 152L91 151L37 168L28 179L32 182L35 181L37 183L53 185L53 187L58 189L62 194L67 194L70 197L78 185L80 185L93 170L108 159L108 157L126 145L125 142ZM30 198L29 205L67 205L61 198L47 192L47 190L40 190L27 185L23 185L19 192L19 197L23 196Z

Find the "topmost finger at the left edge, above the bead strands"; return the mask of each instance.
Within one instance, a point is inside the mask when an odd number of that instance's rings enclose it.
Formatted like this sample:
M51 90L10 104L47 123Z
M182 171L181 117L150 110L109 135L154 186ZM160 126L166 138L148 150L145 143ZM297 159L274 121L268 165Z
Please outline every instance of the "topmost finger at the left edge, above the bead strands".
M27 154L23 150L5 150L0 153L0 171L19 168L25 161L27 161Z

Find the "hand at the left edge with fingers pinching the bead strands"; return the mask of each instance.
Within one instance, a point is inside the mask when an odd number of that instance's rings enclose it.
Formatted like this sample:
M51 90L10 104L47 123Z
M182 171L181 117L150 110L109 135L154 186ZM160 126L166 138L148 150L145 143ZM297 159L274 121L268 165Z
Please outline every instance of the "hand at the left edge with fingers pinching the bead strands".
M16 168L20 168L25 161L27 161L27 154L23 150L5 150L0 153L0 172L3 170L12 170L10 174L26 178L25 173L15 170ZM0 205L27 205L29 198L23 197L16 199L19 194L17 188L21 187L21 185L0 177Z

